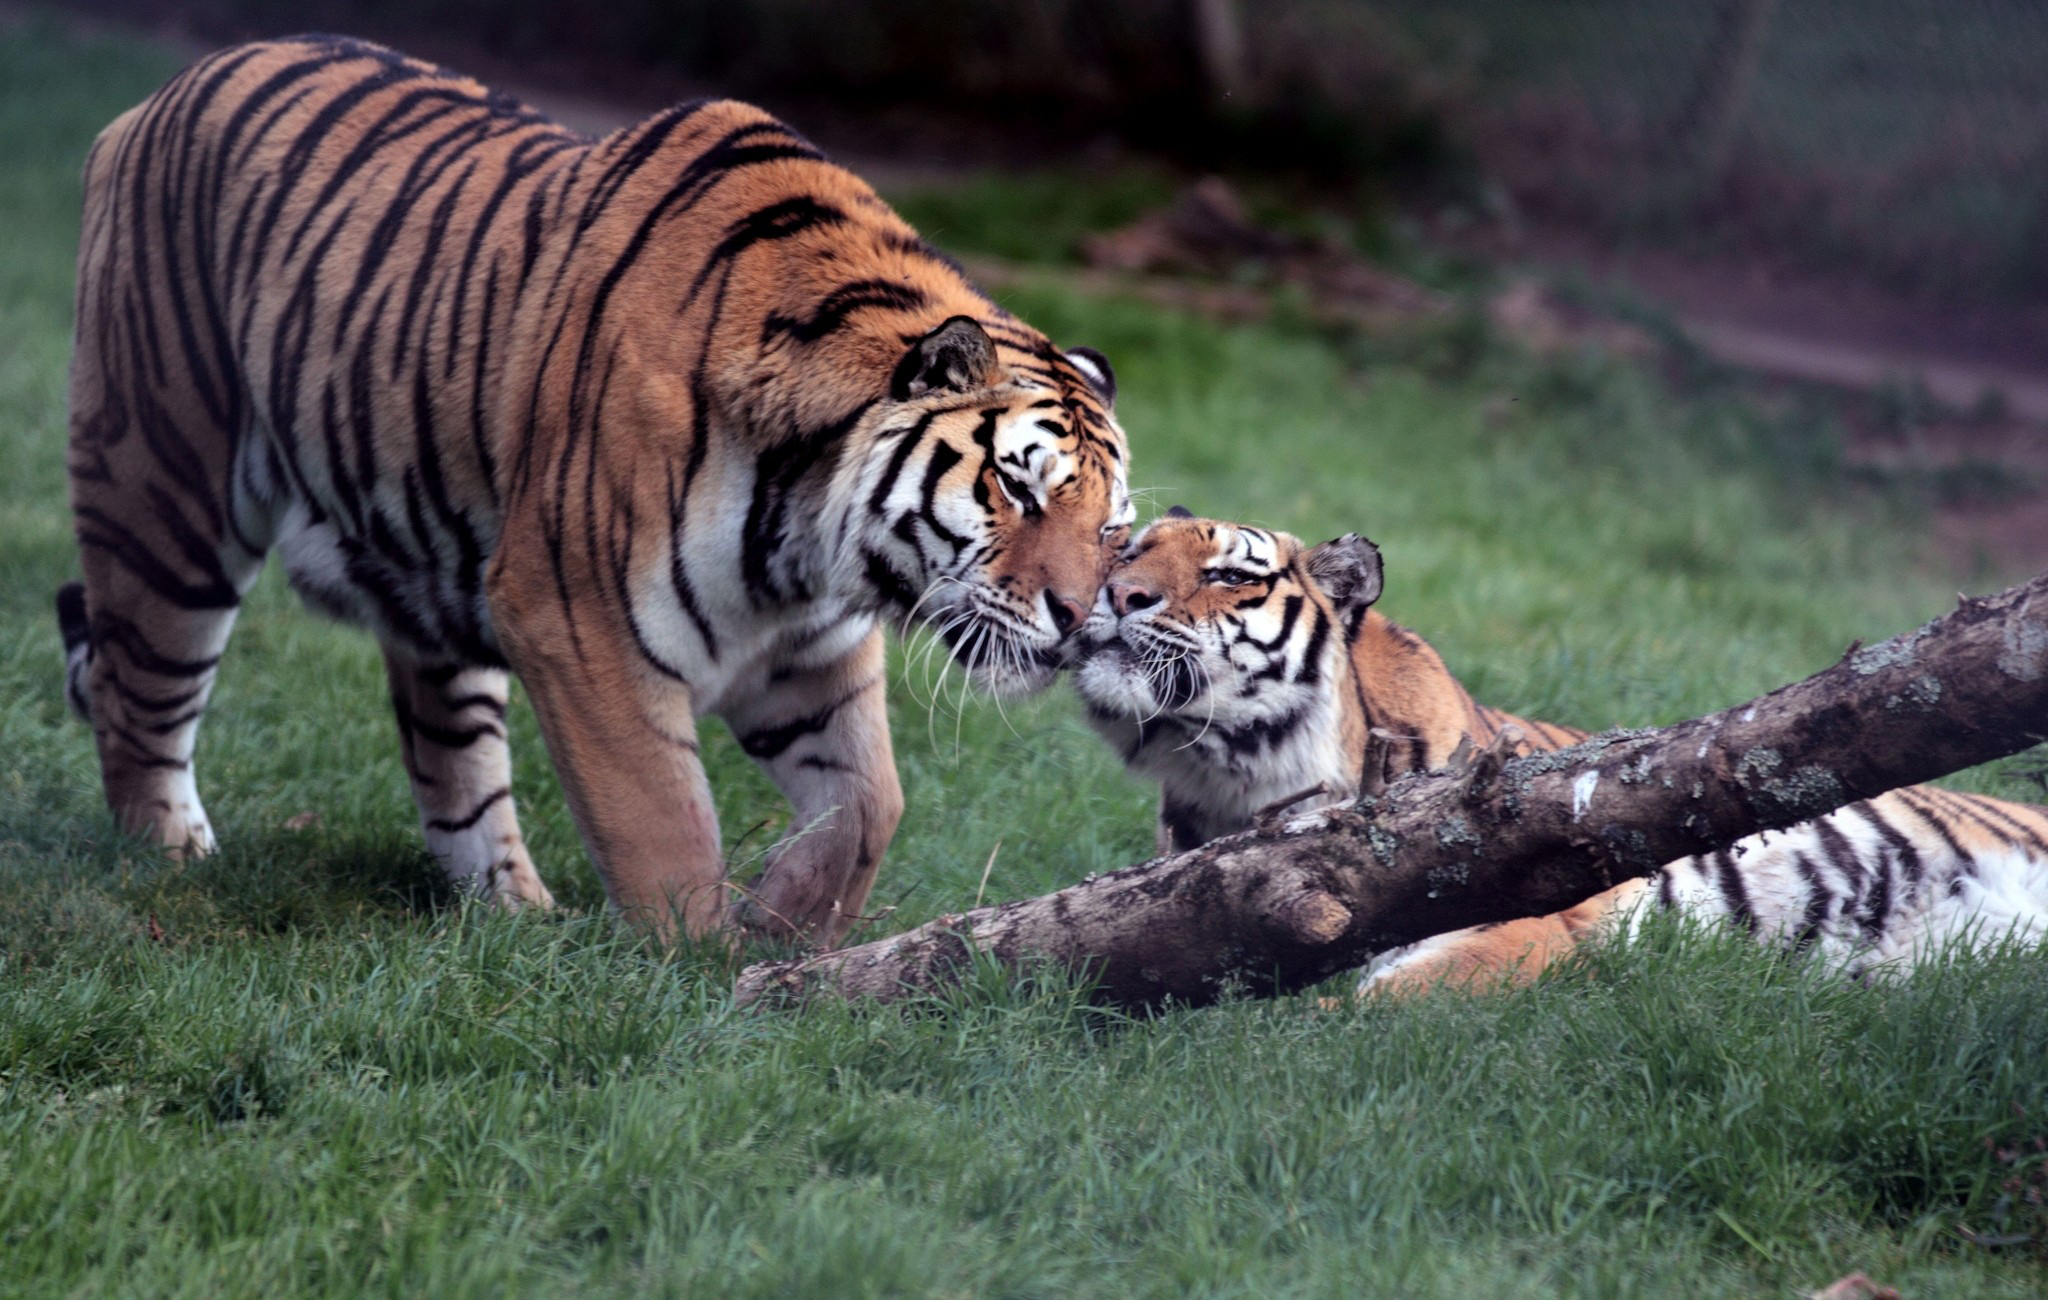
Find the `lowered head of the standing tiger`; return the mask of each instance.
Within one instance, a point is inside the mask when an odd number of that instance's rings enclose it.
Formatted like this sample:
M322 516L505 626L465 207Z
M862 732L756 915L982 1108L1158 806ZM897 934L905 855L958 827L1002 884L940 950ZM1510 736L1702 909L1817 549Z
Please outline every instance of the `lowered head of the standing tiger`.
M909 346L866 418L842 563L985 690L1051 684L1128 536L1114 395L1100 352L956 315Z

